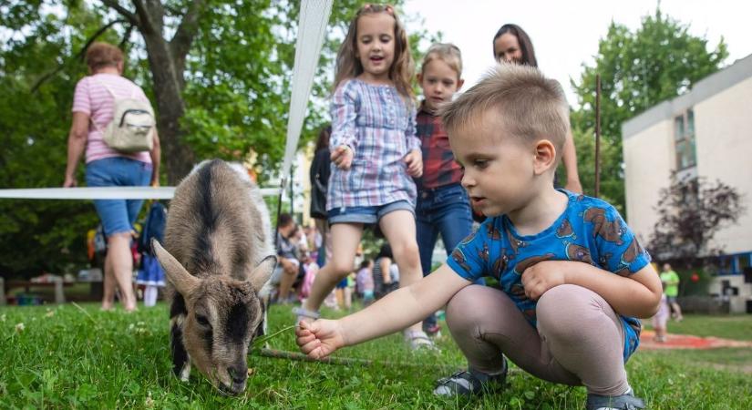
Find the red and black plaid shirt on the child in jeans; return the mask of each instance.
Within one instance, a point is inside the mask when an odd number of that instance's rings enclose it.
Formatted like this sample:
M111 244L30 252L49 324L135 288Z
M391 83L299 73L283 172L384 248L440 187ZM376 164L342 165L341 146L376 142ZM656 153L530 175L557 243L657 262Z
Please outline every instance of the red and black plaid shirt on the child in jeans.
M423 176L416 179L418 190L430 190L462 180L462 168L454 160L449 136L441 118L421 104L417 112L417 138L423 148Z

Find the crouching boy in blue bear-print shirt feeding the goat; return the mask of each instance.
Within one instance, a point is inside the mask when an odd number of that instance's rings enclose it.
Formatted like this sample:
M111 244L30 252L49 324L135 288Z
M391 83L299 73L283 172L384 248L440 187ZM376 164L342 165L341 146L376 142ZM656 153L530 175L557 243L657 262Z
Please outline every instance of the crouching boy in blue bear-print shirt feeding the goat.
M658 308L650 256L613 206L553 188L569 126L561 85L532 67L495 67L442 108L462 185L488 218L447 264L336 321L300 323L297 343L321 358L447 305L469 370L435 395L503 385L507 360L553 383L584 385L588 409L644 408L624 363ZM472 284L492 276L500 288ZM506 356L506 357L505 357Z

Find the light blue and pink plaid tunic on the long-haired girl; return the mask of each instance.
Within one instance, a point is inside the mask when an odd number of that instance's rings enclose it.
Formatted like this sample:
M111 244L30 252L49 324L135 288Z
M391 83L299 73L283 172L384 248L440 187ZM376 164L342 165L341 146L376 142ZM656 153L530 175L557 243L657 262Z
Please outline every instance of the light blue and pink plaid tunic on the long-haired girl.
M326 210L386 205L407 200L415 206L416 187L404 157L420 149L415 108L397 88L350 79L332 98L329 147L346 145L355 157L350 169L332 163Z

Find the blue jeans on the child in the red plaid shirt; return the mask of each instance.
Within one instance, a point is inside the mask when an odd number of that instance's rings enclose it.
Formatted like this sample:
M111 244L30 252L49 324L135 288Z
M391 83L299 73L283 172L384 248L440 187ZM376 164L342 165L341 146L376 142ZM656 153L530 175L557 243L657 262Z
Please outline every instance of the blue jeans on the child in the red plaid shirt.
M423 267L423 276L426 276L431 272L431 257L439 233L444 248L451 253L472 231L468 193L459 184L418 190L415 211L420 266ZM424 327L435 325L436 315L431 314L423 324Z

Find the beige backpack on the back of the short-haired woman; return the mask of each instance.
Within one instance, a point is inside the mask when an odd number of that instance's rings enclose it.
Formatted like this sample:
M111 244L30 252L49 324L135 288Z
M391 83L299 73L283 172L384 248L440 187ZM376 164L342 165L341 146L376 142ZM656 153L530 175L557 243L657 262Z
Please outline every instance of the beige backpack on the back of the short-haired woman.
M97 81L115 99L112 121L102 131L105 144L124 153L150 151L154 147L156 121L149 102L136 98L135 92L120 98L107 84Z

